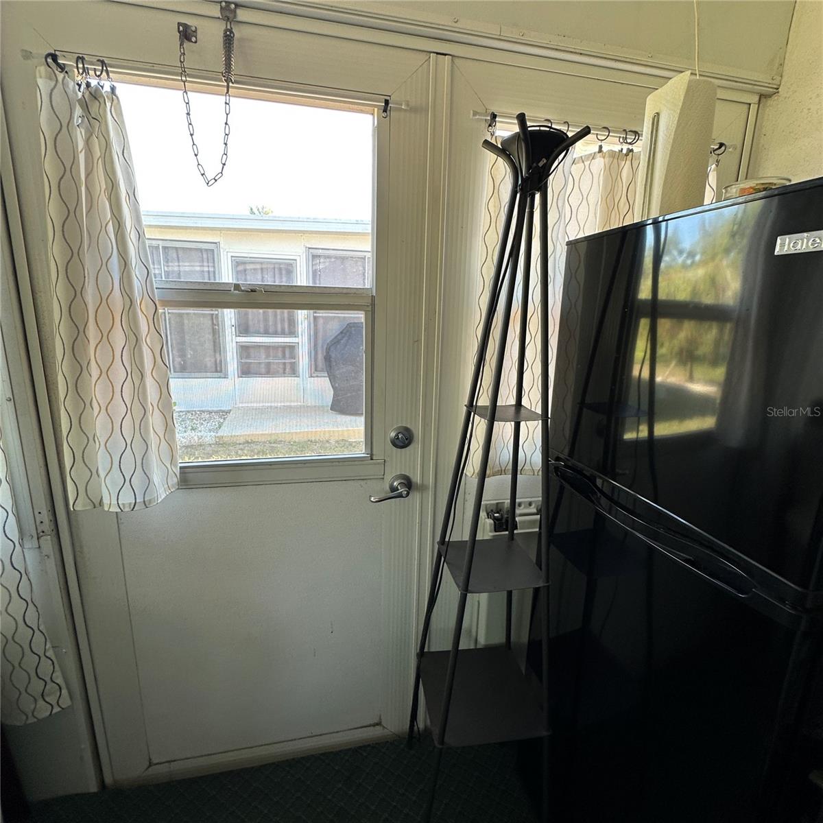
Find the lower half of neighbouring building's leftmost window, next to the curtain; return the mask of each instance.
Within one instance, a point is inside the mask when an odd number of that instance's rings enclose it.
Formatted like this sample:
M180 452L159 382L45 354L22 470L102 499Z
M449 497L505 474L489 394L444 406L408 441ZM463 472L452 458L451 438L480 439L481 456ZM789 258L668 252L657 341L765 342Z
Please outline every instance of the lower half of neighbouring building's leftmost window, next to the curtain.
M220 316L210 309L164 309L172 376L226 373Z

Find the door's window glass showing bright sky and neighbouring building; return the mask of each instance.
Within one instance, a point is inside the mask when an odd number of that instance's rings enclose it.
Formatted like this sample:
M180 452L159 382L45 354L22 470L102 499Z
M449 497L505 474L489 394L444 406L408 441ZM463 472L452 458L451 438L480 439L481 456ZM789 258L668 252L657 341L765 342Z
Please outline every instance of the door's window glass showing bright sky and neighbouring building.
M366 453L374 113L237 98L226 175L206 188L179 92L118 91L165 305L181 462ZM221 101L192 94L207 169L206 136L216 135L219 156ZM158 118L170 123L163 152L150 126ZM279 308L278 288L309 297ZM360 294L349 307L342 295L340 310L310 308L311 294L335 289ZM261 308L248 307L258 299Z

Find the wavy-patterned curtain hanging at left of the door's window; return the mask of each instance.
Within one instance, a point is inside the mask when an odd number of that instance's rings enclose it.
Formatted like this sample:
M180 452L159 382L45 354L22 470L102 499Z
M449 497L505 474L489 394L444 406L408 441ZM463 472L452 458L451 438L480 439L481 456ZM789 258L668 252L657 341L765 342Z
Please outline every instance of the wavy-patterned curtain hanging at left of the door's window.
M37 72L63 463L72 509L178 486L169 366L114 86Z

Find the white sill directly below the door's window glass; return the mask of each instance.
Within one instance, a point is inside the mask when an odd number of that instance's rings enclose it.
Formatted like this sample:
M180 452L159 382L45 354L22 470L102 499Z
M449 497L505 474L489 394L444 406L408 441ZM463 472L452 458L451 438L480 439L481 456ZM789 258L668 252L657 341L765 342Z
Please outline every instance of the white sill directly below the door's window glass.
M261 486L269 483L320 483L383 477L384 460L365 454L341 457L277 458L183 463L180 488L209 486Z

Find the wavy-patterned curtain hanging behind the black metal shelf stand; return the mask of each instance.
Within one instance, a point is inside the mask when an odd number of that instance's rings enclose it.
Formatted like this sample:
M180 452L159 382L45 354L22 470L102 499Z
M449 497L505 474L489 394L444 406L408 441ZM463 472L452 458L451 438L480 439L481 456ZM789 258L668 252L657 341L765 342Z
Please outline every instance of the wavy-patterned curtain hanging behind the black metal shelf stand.
M560 295L563 290L563 273L565 271L565 244L567 240L603 231L616 226L624 226L635 220L636 175L640 165L639 152L635 151L593 151L578 157L567 157L564 164L551 179L551 198L549 207L549 237L551 259L549 260L549 294L552 305L549 312L549 352L550 368L553 367L553 351L556 349L557 324L560 319ZM475 338L480 333L481 311L486 305L488 284L494 267L497 241L506 199L509 196L505 168L502 160L495 159L489 170L486 188L486 219L482 235L481 287L477 295L477 326ZM538 249L537 223L535 221L534 248ZM515 305L509 328L506 370L500 388L500 402L514 402L514 374L517 356L517 330L519 313L522 309L530 312L528 324L528 341L526 346L526 374L523 385L523 402L532 409L540 408L540 339L539 307L539 255L533 263L531 277L530 305ZM515 294L520 295L520 274ZM499 324L495 321L493 339L499 339ZM490 346L486 370L483 374L481 398L478 402L488 402L488 390L491 385L492 364L496 346ZM551 385L551 380L550 380ZM485 421L477 421L476 435L472 441L472 453L467 466L467 473L477 477L477 464L480 462L482 427ZM521 453L518 459L519 473L540 473L540 423L524 423L521 426ZM488 474L490 476L507 474L510 471L512 424L495 424L495 439L492 441L489 457Z

